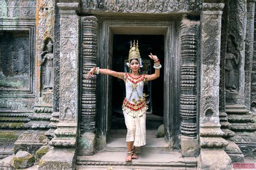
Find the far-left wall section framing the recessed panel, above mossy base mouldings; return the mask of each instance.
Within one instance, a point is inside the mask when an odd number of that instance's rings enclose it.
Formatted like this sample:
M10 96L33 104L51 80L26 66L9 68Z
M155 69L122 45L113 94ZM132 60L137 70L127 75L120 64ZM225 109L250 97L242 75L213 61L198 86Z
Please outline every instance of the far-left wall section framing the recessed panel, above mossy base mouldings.
M0 112L32 112L36 1L1 1L0 11Z

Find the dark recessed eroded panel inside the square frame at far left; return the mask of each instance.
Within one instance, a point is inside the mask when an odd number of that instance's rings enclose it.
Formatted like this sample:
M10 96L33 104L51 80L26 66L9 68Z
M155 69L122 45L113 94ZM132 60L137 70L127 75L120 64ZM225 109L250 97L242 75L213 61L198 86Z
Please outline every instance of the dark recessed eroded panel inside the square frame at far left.
M29 90L32 68L29 32L1 31L0 39L0 90Z

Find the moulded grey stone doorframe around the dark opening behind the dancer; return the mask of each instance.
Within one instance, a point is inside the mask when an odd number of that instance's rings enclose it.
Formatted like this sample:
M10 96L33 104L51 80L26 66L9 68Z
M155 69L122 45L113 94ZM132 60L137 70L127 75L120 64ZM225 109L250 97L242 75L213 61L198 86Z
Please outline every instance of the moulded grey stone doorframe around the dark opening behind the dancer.
M164 19L163 19L164 18ZM153 17L101 17L99 18L98 59L100 68L112 68L112 42L114 34L164 35L164 124L165 138L170 147L179 147L179 34L180 24L174 18ZM128 49L127 49L128 54ZM170 85L169 85L170 84ZM112 77L100 75L97 83L97 145L106 146L110 133L112 110Z

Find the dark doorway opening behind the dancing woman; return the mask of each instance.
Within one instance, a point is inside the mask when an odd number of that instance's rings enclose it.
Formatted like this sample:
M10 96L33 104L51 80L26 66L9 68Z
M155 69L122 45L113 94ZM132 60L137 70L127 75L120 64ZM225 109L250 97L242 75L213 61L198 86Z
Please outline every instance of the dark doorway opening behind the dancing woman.
M149 109L147 110L146 129L156 132L163 124L164 116L164 35L121 35L113 36L113 56L112 69L117 72L129 72L126 68L126 61L129 55L131 40L138 40L140 57L144 67L141 74L153 74L153 61L149 58L152 53L158 56L162 68L160 77L147 82L144 86L144 93L149 95L146 98ZM122 104L125 97L125 84L122 80L112 79L112 117L111 117L111 137L125 138L126 126L122 111ZM154 135L154 134L152 134Z

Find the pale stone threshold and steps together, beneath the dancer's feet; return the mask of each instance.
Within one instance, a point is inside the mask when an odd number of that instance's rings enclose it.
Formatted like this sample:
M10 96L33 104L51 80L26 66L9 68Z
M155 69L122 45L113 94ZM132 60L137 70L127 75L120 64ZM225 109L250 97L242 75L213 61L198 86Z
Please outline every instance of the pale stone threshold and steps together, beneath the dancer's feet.
M147 138L147 144L139 147L139 159L125 162L125 138L110 138L105 150L91 156L78 156L77 169L196 169L196 157L183 158L178 150L171 150L164 138Z

